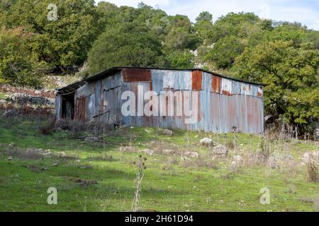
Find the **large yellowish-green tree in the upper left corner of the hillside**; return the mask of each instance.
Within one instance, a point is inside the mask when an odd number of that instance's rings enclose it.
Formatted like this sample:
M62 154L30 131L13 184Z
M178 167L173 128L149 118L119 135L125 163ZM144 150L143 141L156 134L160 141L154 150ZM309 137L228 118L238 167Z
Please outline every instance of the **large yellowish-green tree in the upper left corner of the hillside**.
M57 20L47 19L49 4L57 6ZM5 12L8 28L33 33L30 47L40 61L58 69L82 64L103 24L93 0L18 0Z

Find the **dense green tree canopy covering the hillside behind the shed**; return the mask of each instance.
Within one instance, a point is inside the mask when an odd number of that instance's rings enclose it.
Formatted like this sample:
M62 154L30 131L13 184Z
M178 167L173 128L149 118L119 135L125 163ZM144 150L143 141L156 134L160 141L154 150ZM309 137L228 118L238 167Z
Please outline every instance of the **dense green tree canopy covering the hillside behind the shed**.
M47 19L49 4L57 20ZM192 23L143 3L4 0L0 27L1 82L36 85L43 69L72 73L85 61L91 75L111 66L201 67L267 83L266 114L291 124L318 121L319 32L300 23L207 11Z

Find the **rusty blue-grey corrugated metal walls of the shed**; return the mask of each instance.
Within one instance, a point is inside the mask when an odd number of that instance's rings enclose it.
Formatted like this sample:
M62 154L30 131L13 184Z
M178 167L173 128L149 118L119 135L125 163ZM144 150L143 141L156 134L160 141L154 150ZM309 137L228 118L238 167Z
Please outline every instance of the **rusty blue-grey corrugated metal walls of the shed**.
M123 117L121 100L123 92L130 90L138 97L138 87L143 94L155 91L159 100L161 91L172 91L166 105L177 109L177 103L193 105L191 98L184 99L189 90L198 98L198 120L185 124L185 116L129 116ZM169 129L187 129L214 133L228 133L233 126L242 133L264 131L263 91L259 85L233 81L200 70L122 69L108 78L83 85L75 96L75 119L99 120L106 124L133 126L159 126ZM186 102L185 102L186 100ZM146 104L145 100L144 104ZM138 100L136 100L138 102ZM144 106L144 105L143 105ZM163 106L159 106L159 109ZM138 110L138 103L135 108Z

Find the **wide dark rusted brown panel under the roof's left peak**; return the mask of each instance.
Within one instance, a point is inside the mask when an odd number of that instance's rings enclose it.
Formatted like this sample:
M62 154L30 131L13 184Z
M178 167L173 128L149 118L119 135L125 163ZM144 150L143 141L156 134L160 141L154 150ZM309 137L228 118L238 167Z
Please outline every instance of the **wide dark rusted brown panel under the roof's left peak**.
M125 83L152 81L150 69L123 69L122 73Z

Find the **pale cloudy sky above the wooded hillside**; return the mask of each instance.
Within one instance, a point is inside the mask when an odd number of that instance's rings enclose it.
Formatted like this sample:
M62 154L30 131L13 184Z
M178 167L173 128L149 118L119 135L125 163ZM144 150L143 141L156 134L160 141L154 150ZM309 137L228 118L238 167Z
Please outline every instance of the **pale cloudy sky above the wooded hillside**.
M140 1L161 8L169 15L189 16L192 21L202 11L210 11L213 20L230 12L244 11L254 12L262 18L297 21L319 30L319 0L108 0L117 6L134 7Z

